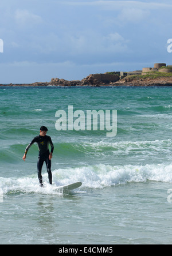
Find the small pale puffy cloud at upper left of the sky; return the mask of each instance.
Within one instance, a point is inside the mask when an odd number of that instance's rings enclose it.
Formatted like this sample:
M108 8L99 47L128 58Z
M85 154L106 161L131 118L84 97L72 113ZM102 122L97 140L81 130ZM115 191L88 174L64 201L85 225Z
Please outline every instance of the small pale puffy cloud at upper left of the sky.
M15 11L15 21L18 25L34 25L40 24L42 22L42 18L36 14L30 13L28 10L20 10L17 9Z

